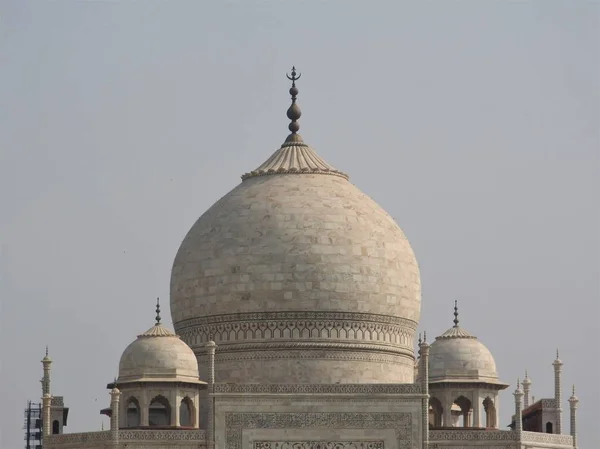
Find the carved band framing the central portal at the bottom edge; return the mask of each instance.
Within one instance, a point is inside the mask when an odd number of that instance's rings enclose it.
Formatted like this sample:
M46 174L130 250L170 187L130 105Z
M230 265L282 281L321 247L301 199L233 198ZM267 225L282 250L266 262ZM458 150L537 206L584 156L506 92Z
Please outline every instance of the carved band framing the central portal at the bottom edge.
M244 429L393 429L398 449L413 447L410 413L225 413L227 449L242 449Z

